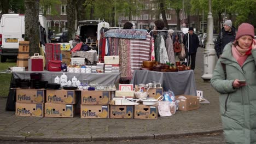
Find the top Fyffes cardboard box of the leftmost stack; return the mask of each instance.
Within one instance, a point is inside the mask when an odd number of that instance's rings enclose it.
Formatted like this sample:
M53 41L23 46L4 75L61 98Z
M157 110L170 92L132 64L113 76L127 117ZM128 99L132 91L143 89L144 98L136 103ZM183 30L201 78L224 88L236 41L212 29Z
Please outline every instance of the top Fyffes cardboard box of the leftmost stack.
M45 103L45 89L16 89L18 103Z

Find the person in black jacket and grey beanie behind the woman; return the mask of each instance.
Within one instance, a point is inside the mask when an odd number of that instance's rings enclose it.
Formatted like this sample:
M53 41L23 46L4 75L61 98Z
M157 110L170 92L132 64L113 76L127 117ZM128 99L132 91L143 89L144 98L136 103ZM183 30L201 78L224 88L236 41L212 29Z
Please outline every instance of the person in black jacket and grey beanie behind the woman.
M219 33L219 36L216 41L216 45L214 47L218 58L222 55L225 45L228 44L230 41L234 41L235 38L236 38L235 27L232 26L231 20L226 20L224 22L222 31Z

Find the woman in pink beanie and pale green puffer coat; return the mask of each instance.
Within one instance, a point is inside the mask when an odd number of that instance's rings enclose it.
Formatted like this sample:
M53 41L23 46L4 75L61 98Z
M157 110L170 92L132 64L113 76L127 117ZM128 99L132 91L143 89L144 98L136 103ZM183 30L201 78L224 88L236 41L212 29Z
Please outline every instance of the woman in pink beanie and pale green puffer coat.
M256 143L256 40L254 27L242 23L234 43L224 47L211 85L220 93L226 143Z

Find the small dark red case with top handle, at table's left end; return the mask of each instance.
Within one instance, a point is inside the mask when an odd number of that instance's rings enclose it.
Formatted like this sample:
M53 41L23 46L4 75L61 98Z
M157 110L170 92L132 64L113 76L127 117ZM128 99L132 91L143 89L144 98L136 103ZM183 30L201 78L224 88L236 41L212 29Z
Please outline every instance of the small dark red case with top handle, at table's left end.
M31 56L28 59L28 71L43 71L44 70L44 59L43 56L40 56L39 53L34 53L34 56Z

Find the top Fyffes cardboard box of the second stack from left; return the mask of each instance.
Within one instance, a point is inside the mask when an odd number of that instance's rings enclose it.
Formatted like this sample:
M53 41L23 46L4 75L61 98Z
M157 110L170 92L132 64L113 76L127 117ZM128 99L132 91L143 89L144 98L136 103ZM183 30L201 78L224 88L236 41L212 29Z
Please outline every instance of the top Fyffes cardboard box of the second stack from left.
M46 102L47 103L57 103L57 104L75 104L76 95L74 90L46 90Z

